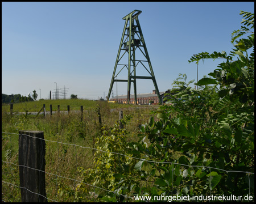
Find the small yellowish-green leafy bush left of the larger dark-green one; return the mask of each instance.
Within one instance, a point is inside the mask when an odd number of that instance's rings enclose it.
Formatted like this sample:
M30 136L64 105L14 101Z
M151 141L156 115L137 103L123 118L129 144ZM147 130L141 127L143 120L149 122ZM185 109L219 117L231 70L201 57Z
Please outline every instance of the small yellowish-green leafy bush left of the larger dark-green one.
M130 116L126 116L122 120L125 125ZM105 201L123 201L122 194L129 194L130 190L138 182L133 172L135 160L122 155L131 156L129 154L129 145L127 142L128 132L126 129L119 129L119 121L115 121L113 128L107 129L102 127L102 135L96 138L97 151L94 152L94 168L80 168L80 172L84 177L83 182L92 183L93 185L109 189L101 191L96 189L97 194ZM113 154L118 152L119 154ZM121 155L120 155L121 154ZM87 186L81 183L77 190L79 192L88 192ZM86 194L81 194L81 198L86 200Z

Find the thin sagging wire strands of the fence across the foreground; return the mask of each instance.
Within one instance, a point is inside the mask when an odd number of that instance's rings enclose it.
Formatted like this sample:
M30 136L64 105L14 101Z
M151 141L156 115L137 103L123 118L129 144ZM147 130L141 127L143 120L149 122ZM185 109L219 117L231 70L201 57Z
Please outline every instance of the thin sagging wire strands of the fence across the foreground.
M11 141L11 135L19 135L19 134L16 134L16 133L6 133L6 132L2 132L2 134L7 134L8 137L10 137L10 141ZM27 134L23 134L24 136L26 137L32 137L31 135L27 135ZM34 138L34 137L32 137ZM36 139L42 139L42 138L36 138ZM154 160L146 160L146 159L141 159L141 158L136 158L134 156L129 156L129 155L125 155L125 154L121 154L119 152L109 152L109 151L104 151L104 150L100 150L98 148L93 148L93 147L84 147L84 146L80 146L80 145L76 145L76 144L72 144L72 143L64 143L64 142L59 142L59 141L51 141L51 140L48 140L48 139L42 139L48 143L56 143L57 145L67 145L67 146L73 146L75 147L75 150L77 147L79 148L83 148L83 149L88 149L88 150L92 150L93 152L95 151L98 151L98 152L102 152L102 153L105 153L105 154L113 154L113 155L118 155L119 156L123 156L123 157L126 157L126 158L129 158L129 159L135 159L135 160L138 160L138 161L143 161L143 162L146 162L146 163L158 163L158 164L171 164L171 165L180 165L181 167L195 167L195 168L208 168L209 171L211 171L211 169L216 169L218 171L223 171L225 173L229 173L229 172L236 172L236 173L245 173L247 176L248 176L248 180L249 180L249 195L251 193L251 184L250 184L250 175L254 175L254 172L245 172L245 171L230 171L230 170L225 170L225 169L220 169L220 168L214 168L214 167L208 167L208 166L203 166L203 165L186 165L186 164L180 164L180 163L174 163L174 162L159 162L159 161L154 161ZM76 154L76 151L75 151L75 154ZM59 151L58 151L58 158L59 158ZM24 167L24 168L30 168L30 169L33 169L35 171L41 171L39 169L35 169L35 168L31 168L31 167L28 167L28 166L25 166L25 165L19 165L19 164L15 164L13 162L10 162L10 161L5 161L5 160L2 160L2 166L3 164L9 164L9 165L14 165L16 167ZM77 162L77 154L76 154L76 164L78 165L78 162ZM76 166L77 167L77 166ZM3 169L3 168L2 168ZM172 168L172 171L174 171L174 169ZM46 173L47 175L51 175L51 176L55 176L56 178L62 178L62 179L66 179L66 180L70 180L70 181L73 181L74 183L75 182L78 182L79 184L85 184L85 185L88 185L90 187L92 187L94 189L94 196L96 196L96 192L95 192L95 189L99 189L99 190L103 190L105 192L112 192L112 193L115 193L115 191L113 190L108 190L108 189L104 189L104 188L101 188L99 186L96 186L96 185L93 185L93 184L89 184L89 183L86 183L82 180L77 180L77 179L73 179L71 177L65 177L65 176L61 176L59 175L59 172L57 171L57 173L50 173L50 172L46 172L46 171L41 171L41 172L44 172ZM11 172L10 172L11 174ZM150 177L150 175L147 177L147 179ZM146 179L146 181L147 181ZM146 182L145 181L145 182ZM17 184L13 184L11 182L7 182L5 180L2 180L2 185L5 184L5 185L11 185L11 186L14 186L16 188L23 188L23 187L20 187L19 185ZM173 184L172 184L173 185ZM210 184L211 185L211 184ZM143 186L143 185L142 185ZM141 188L142 188L141 186ZM35 192L31 192L31 190L27 189L27 188L23 188L23 189L26 189L28 190L30 193L34 193L34 194L38 194L38 193L35 193ZM210 194L211 194L211 190L210 190ZM119 194L121 196L123 196L125 199L133 199L133 197L129 197L129 196L126 196L125 194ZM43 196L43 195L40 195L40 196ZM46 198L46 197L45 197ZM53 198L47 198L48 201L51 201L51 202L59 202L57 201L56 199L53 199ZM8 201L4 201L2 199L2 202L8 202Z

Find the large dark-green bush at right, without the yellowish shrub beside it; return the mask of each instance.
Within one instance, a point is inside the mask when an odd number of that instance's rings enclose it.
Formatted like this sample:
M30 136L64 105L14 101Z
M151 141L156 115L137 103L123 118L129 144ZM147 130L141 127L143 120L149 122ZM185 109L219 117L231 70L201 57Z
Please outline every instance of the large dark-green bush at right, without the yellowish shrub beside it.
M254 28L254 14L240 14L249 18L242 23ZM237 41L246 33L247 39ZM212 78L199 80L197 91L180 75L176 94L168 96L175 105L163 105L155 112L159 121L151 117L142 127L150 146L140 151L145 159L140 169L146 160L156 161L149 163L155 185L145 193L245 196L254 189L254 175L232 172L254 172L254 32L242 26L232 36L237 44L229 56L204 52L189 61L226 59L209 74Z

